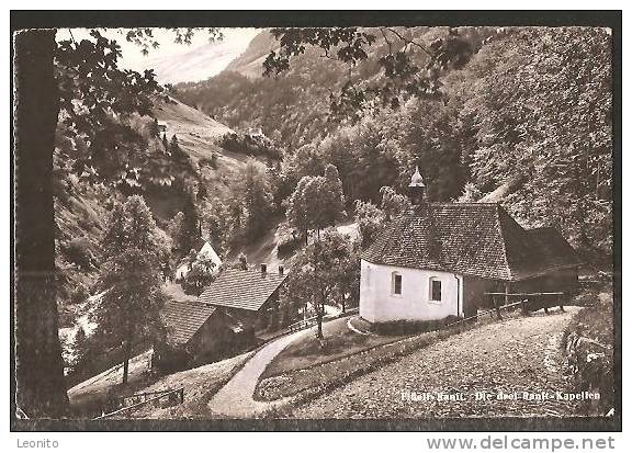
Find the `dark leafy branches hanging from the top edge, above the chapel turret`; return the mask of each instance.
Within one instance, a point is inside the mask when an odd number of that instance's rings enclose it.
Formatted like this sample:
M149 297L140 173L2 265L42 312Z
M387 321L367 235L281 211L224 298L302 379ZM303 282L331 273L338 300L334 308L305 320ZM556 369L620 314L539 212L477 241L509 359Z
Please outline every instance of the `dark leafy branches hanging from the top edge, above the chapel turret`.
M397 107L406 97L436 97L439 77L449 67L462 68L474 53L470 42L462 38L456 29L450 29L429 45L419 42L409 30L379 27L330 29L272 29L280 48L272 50L263 63L264 75L279 75L290 69L290 60L303 55L308 46L324 52L351 68L369 59L371 47L383 38L385 55L377 59L381 73L376 82L349 79L339 94L330 95L334 116L359 120L358 111L372 104ZM425 68L418 66L418 55L424 54Z

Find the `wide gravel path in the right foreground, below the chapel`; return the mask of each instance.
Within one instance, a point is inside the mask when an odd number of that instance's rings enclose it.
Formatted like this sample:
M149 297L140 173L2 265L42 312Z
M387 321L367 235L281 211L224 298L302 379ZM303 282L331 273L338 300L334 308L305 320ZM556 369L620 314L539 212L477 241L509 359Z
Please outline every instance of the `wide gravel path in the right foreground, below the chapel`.
M566 392L560 343L577 310L538 313L450 337L297 408L291 417L575 415L576 404L558 399L556 392ZM476 399L478 392L488 397ZM546 399L533 399L542 392ZM408 397L410 393L429 399ZM499 399L500 393L516 397ZM454 400L459 397L464 399Z

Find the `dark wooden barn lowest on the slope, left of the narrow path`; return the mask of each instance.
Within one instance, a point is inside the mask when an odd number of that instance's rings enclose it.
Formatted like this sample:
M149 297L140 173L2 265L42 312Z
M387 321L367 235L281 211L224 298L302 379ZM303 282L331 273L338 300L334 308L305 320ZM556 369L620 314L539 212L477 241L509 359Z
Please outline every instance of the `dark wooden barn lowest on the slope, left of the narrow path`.
M253 331L224 310L194 301L169 301L162 309L167 341L155 344L153 367L183 370L235 355L253 343Z

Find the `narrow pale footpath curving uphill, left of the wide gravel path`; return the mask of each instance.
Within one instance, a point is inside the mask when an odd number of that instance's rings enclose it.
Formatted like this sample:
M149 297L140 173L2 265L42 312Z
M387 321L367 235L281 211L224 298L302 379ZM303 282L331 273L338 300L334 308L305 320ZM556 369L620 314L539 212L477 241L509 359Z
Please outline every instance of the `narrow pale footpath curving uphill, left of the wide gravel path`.
M271 341L261 348L228 383L208 401L208 409L216 416L227 418L256 418L284 405L286 399L256 401L252 398L259 376L268 364L296 338L312 332L300 330Z

